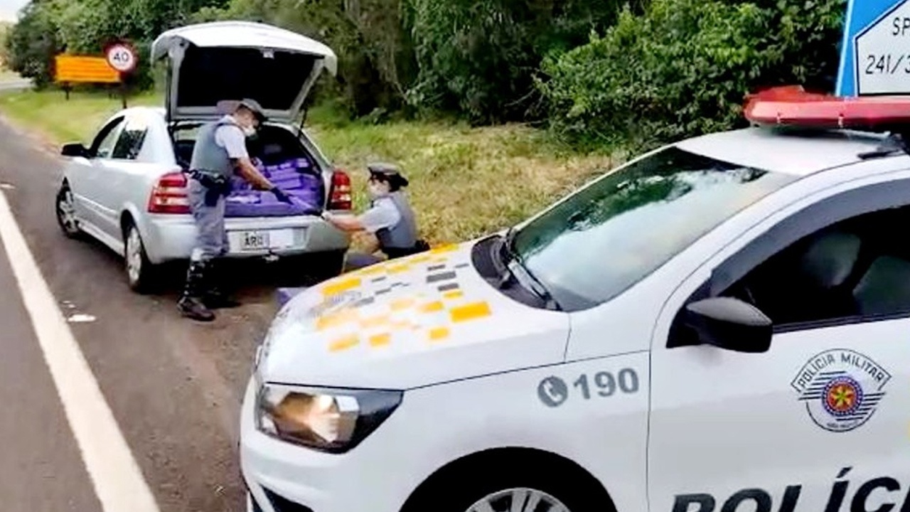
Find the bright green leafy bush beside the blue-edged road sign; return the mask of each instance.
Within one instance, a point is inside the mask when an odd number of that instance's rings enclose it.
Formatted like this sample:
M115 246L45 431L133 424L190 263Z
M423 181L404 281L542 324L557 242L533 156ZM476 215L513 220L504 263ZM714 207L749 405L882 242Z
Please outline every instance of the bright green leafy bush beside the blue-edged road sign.
M765 2L768 4L769 2ZM844 0L654 0L543 64L551 128L585 146L650 148L743 123L759 87L831 88Z

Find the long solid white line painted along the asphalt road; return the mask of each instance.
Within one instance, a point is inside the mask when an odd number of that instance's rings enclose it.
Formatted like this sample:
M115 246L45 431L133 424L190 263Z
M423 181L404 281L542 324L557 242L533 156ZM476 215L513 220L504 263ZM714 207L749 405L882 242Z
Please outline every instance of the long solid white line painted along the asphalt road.
M2 192L0 239L102 509L159 512L155 497Z

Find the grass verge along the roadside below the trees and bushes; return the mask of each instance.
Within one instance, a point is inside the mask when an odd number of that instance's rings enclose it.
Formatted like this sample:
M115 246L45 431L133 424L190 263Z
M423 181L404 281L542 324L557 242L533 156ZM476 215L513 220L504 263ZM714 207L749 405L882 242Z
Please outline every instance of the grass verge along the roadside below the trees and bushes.
M131 105L160 105L147 94ZM120 108L117 97L60 91L0 95L0 113L51 142L88 140ZM461 241L509 226L609 169L605 155L581 155L545 132L520 125L470 128L445 122L348 121L330 107L313 108L308 131L354 181L356 205L366 202L365 166L397 163L410 179L411 202L431 243Z

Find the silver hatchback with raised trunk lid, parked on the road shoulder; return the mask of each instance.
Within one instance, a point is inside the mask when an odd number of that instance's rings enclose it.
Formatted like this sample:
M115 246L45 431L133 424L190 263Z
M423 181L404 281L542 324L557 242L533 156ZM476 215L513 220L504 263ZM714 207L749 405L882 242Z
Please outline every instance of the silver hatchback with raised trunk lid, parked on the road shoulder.
M106 121L89 147L64 146L69 159L56 216L66 236L85 233L123 254L129 286L147 291L161 263L188 259L193 249L185 171L197 128L223 115L226 101L251 97L269 119L259 131L259 150L251 152L304 162L321 204L305 213L228 213L227 257L308 256L319 262L320 275L338 274L350 238L318 210L350 210L349 176L302 126L293 126L323 68L336 72L332 50L274 26L217 22L159 36L152 58L165 57L166 108L127 108Z

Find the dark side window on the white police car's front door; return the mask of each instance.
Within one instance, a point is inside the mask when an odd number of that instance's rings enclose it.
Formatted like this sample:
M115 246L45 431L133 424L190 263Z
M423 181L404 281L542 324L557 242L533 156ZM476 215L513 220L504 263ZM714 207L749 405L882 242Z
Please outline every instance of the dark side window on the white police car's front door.
M688 304L752 304L776 333L910 317L910 179L877 182L806 206L712 270L676 312L667 348L700 344Z

